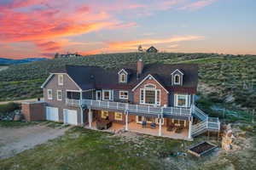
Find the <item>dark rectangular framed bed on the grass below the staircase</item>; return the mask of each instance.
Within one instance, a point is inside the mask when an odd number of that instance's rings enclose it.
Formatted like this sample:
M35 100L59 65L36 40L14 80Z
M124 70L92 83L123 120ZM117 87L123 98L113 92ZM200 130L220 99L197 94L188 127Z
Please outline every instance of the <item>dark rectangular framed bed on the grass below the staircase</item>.
M201 142L199 144L194 144L189 147L189 153L195 155L195 156L203 156L207 153L210 153L212 150L217 148L218 146L215 144L211 144L209 142Z

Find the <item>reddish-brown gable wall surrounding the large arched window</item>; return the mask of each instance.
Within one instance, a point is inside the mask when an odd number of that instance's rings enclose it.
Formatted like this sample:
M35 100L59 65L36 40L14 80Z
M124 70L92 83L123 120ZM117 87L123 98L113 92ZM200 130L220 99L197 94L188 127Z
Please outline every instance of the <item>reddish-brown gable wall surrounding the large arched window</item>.
M140 104L140 89L144 88L144 86L148 83L154 84L156 86L156 89L160 89L160 105L168 105L168 94L166 90L162 88L158 82L155 82L154 79L145 80L139 87L135 89L135 91L133 92L134 103L138 105Z

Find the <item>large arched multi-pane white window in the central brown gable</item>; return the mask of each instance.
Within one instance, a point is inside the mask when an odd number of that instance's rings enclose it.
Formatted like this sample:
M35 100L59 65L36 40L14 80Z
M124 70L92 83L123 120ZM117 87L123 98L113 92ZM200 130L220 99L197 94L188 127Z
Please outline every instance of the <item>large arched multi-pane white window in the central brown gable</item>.
M160 105L160 89L156 89L154 84L145 85L140 92L140 104Z

